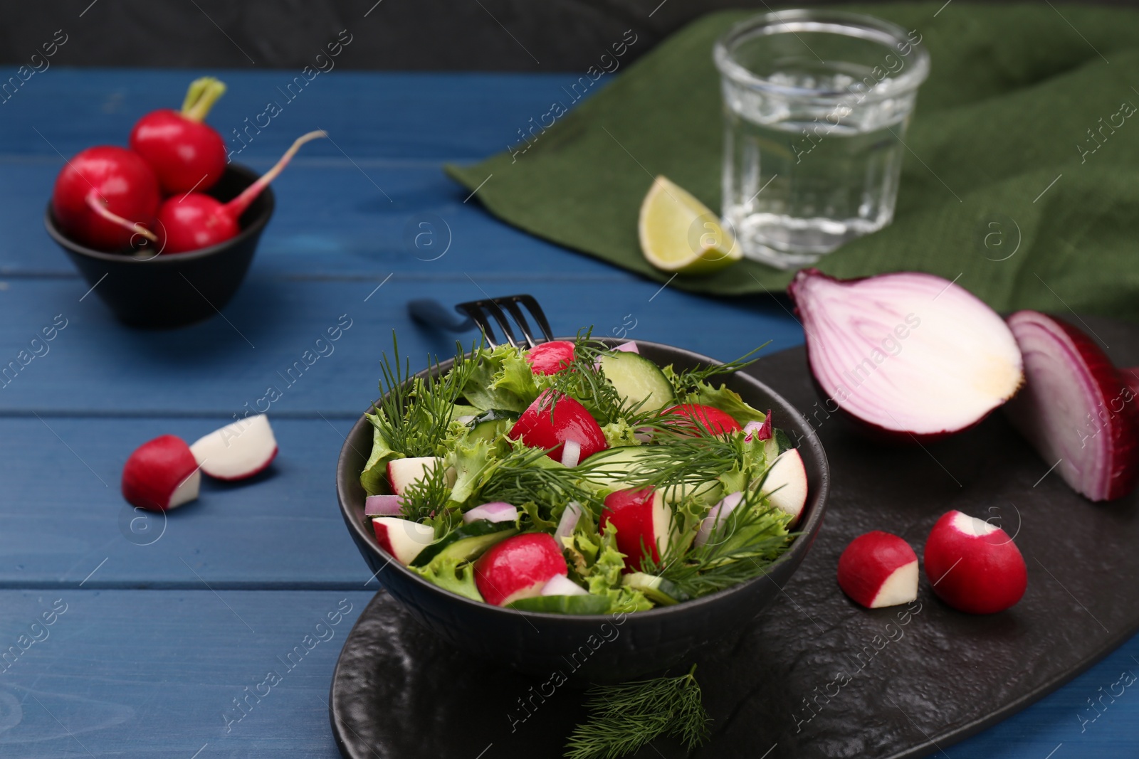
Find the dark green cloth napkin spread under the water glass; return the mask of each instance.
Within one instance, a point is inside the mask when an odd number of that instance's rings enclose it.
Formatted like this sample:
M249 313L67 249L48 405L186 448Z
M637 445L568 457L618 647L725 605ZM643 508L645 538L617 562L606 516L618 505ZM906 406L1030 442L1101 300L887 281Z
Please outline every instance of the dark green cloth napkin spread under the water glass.
M917 30L932 73L906 139L894 223L819 269L920 270L957 278L998 310L1139 319L1139 13L960 1L843 8ZM655 174L720 208L712 44L748 15L694 22L535 130L524 154L446 172L482 185L477 197L510 224L665 281L641 256L638 209ZM554 114L572 104L563 90L550 99ZM744 295L781 290L789 278L743 262L673 286Z

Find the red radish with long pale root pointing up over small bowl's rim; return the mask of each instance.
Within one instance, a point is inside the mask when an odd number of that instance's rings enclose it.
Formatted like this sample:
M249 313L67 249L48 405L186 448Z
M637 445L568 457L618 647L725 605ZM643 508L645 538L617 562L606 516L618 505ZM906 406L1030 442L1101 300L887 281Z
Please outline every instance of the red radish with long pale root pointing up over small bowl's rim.
M326 133L318 130L297 138L272 168L229 203L222 203L203 192L188 192L166 198L157 214L159 249L163 253L187 253L237 237L238 218L249 204L277 179L302 145L321 137L326 137Z

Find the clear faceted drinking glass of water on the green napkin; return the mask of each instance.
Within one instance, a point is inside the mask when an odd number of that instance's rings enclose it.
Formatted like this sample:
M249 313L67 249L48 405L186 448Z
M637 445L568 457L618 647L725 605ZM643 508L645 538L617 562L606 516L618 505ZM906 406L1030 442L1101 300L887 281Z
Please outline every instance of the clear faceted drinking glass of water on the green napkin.
M893 220L921 35L838 10L780 10L713 53L724 115L724 223L745 256L811 264Z

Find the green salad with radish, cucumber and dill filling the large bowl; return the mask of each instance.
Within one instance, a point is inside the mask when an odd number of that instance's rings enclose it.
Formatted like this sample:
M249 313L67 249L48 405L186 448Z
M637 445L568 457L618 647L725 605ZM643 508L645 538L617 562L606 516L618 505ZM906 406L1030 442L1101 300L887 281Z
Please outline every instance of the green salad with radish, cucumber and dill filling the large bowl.
M754 354L754 352L753 352ZM359 481L388 561L469 601L552 614L686 604L764 575L808 503L800 452L728 364L579 336L385 357Z

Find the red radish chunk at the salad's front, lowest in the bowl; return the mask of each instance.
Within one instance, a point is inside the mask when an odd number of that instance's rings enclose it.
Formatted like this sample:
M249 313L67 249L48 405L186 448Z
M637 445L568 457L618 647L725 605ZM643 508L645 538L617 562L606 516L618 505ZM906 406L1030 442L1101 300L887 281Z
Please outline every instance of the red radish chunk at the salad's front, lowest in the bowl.
M568 571L552 536L524 533L497 543L478 558L475 585L486 603L503 607L540 595L547 583Z

